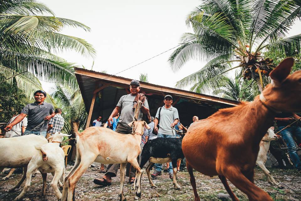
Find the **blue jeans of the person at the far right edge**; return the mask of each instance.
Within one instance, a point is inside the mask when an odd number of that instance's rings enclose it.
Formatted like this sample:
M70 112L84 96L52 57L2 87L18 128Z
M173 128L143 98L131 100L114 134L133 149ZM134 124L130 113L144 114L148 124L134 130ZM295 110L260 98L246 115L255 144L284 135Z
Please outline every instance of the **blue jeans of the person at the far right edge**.
M283 129L285 126L280 126L279 130ZM284 139L286 145L288 146L288 155L293 161L296 168L301 169L301 161L297 154L297 148L293 135L297 138L297 141L301 142L301 128L299 126L290 126L280 132L282 138Z

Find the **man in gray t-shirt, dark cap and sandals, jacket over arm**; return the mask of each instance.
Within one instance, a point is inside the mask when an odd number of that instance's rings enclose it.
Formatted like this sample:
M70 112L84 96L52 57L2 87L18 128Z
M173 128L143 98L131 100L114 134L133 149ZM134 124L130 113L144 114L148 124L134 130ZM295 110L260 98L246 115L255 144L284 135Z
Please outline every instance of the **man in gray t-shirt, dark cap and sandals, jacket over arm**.
M120 134L131 134L132 127L129 127L128 124L133 121L134 117L134 100L135 97L139 94L140 83L138 80L132 80L129 85L130 94L121 96L120 100L117 103L117 106L113 110L112 114L108 118L108 126L111 126L113 122L113 117L120 113L120 119L116 127L116 132ZM143 105L141 106L142 113L150 117L150 110L148 107L147 99L145 99ZM142 113L139 113L137 120L142 120ZM107 166L107 171L105 175L101 178L94 179L94 183L102 186L111 185L112 177L116 177L118 167L120 164L109 164ZM131 167L130 163L127 163L126 166L126 176L130 177L130 183L134 183L136 170Z

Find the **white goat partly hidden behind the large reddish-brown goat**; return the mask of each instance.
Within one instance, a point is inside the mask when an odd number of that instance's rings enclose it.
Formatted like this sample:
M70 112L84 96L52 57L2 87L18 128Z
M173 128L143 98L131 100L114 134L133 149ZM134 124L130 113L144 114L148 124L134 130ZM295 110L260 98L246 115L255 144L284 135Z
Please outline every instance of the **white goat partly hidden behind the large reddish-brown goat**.
M269 128L259 144L259 152L257 155L256 163L262 169L264 174L267 176L267 181L270 184L275 185L278 188L283 188L283 186L281 186L278 182L276 182L276 180L272 177L271 172L268 171L267 168L264 166L264 164L267 162L267 152L270 148L270 142L272 140L277 140L277 139L278 137L274 133L274 127Z

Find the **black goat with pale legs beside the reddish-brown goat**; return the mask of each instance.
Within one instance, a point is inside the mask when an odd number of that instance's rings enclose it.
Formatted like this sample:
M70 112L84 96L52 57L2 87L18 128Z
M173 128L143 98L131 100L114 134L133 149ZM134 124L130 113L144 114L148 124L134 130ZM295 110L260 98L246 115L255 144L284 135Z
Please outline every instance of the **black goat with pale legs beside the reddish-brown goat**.
M182 138L156 138L147 141L141 153L140 168L142 169L145 163L150 160L150 164L146 167L146 174L150 181L151 187L156 187L150 177L150 169L155 163L169 163L172 162L173 168L173 185L175 189L179 190L180 186L177 184L177 160L183 160L184 154L182 151ZM140 198L141 191L141 173L136 173L135 189L136 195Z

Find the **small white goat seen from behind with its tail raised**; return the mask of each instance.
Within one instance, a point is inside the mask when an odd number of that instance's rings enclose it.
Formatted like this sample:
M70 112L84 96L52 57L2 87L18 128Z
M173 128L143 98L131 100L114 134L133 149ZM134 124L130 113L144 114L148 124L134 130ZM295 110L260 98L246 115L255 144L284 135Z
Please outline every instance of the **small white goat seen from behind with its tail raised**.
M43 144L42 146L39 145L36 146L36 149L39 151L39 153L35 154L32 157L32 159L29 161L27 166L26 183L24 189L14 199L14 201L22 200L26 191L30 187L31 176L36 169L39 169L41 173L51 173L53 175L53 179L50 185L53 188L57 199L58 200L61 199L62 194L57 187L57 183L59 183L60 187L63 187L60 178L61 176L63 176L63 181L64 181L65 154L63 149L60 147L60 144L63 141L64 136L70 136L70 135L56 132L54 135L48 138L50 140L49 143Z

